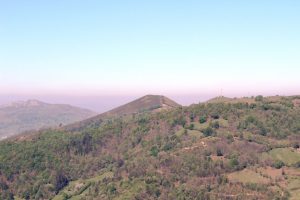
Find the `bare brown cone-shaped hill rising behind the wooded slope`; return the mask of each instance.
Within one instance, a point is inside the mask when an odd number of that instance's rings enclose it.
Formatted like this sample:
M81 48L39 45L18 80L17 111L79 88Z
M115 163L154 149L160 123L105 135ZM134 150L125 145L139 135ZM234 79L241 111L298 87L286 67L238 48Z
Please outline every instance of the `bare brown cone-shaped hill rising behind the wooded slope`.
M165 96L146 95L125 105L112 109L108 112L99 114L78 123L67 125L65 128L69 131L73 131L80 129L81 127L85 127L89 124L99 124L105 119L122 117L125 115L132 115L143 112L158 112L161 110L168 110L179 106L181 105Z

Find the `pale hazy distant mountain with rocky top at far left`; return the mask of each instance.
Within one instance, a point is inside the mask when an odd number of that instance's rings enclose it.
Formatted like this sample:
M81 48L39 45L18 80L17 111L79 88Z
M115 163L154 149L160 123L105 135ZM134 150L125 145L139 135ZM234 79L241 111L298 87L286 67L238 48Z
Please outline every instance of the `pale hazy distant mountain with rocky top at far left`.
M0 106L0 139L24 131L74 123L95 114L87 109L38 100L12 102Z

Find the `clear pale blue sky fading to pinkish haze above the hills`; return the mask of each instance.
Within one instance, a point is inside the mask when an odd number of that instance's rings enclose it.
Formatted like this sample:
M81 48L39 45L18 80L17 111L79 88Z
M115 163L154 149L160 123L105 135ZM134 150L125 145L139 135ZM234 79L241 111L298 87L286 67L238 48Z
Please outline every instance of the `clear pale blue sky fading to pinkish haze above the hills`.
M0 95L300 94L300 1L0 1Z

